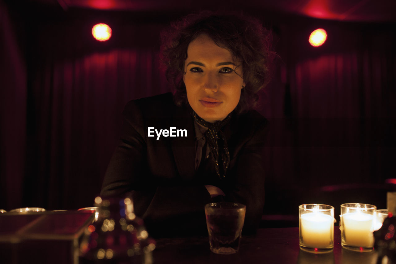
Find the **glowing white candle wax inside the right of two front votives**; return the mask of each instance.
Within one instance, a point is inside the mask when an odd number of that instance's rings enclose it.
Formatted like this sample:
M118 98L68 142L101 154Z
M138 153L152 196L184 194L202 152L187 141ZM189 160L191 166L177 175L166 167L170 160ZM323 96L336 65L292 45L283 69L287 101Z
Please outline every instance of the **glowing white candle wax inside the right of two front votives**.
M343 214L345 243L355 247L373 247L373 220L373 215L363 212Z

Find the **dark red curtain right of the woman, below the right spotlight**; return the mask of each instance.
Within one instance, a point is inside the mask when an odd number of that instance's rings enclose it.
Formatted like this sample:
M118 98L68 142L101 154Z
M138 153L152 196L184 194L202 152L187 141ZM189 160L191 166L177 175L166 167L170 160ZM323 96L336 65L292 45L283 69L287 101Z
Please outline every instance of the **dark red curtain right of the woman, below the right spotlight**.
M322 186L374 186L395 177L395 31L383 24L325 26L329 39L319 48L305 38L318 25L277 32L279 67L262 102L272 124L265 148L268 212L279 212L278 201L284 212L318 203L312 193ZM343 201L358 199L350 196ZM385 193L368 200L386 207Z

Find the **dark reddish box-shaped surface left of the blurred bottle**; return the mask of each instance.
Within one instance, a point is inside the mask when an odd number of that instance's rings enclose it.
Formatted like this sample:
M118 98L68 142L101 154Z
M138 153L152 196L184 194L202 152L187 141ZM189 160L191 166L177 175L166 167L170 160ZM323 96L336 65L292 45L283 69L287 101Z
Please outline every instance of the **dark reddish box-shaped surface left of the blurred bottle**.
M78 239L93 222L87 211L0 215L1 264L78 264Z

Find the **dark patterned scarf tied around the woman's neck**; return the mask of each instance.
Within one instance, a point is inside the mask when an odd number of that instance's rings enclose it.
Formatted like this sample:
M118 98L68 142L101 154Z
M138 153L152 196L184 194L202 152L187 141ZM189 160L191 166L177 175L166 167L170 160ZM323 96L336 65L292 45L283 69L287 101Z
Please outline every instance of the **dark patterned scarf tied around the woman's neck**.
M204 136L208 142L211 157L215 161L216 173L220 178L224 178L228 165L230 164L230 152L228 151L227 141L224 138L224 134L220 129L230 121L231 114L222 121L214 123L206 122L192 109L191 115L198 124L208 128L204 133Z

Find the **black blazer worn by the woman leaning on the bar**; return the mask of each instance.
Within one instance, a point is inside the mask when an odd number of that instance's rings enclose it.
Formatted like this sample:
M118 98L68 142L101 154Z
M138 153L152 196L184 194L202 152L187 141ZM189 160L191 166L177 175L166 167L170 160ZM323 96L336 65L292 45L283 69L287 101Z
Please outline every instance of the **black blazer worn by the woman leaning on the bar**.
M212 184L224 200L246 205L244 231L254 231L264 206L263 145L267 120L257 111L233 114L221 130L230 164L224 179L195 172L195 129L187 107L177 107L171 93L129 101L124 109L120 144L107 168L101 195L132 195L135 213L149 233L206 230L204 187ZM187 130L186 137L148 137L148 128Z

